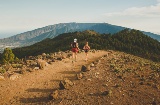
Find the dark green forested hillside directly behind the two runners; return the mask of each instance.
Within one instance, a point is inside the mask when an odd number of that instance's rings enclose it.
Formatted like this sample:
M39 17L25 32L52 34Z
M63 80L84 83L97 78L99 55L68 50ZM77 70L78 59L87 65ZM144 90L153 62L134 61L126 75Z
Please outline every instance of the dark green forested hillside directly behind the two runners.
M160 61L160 43L138 30L129 29L113 35L99 34L94 31L65 33L28 47L15 48L13 53L19 58L24 58L30 55L70 50L70 44L74 38L78 39L80 49L83 48L85 41L88 41L92 49L118 50L153 61Z

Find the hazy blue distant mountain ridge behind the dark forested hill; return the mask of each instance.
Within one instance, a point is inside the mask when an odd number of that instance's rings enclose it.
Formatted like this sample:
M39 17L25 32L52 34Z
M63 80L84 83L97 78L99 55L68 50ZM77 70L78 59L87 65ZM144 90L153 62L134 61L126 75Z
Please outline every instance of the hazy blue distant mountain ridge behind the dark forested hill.
M84 30L94 30L100 34L102 33L117 33L125 27L111 25L108 23L60 23L55 25L50 25L42 28L38 28L32 31L24 32L9 38L0 39L0 47L12 46L12 47L22 47L29 46L36 42L40 42L46 38L54 38L55 36L75 31ZM143 32L146 35L160 41L160 36L150 33ZM1 48L0 48L1 49Z

